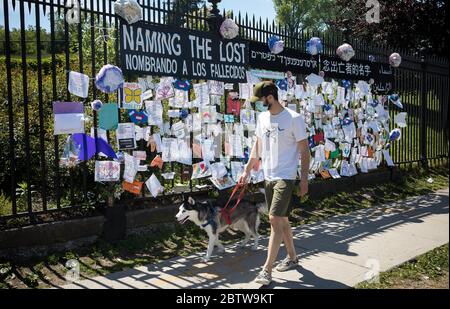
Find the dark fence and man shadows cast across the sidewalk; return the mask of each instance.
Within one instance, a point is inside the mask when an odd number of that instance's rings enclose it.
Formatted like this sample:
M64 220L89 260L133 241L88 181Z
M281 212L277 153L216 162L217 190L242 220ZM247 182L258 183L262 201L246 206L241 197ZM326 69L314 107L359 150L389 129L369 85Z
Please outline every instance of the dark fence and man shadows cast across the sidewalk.
M356 257L355 252L349 251L350 244L405 224L420 223L421 218L429 215L448 214L448 206L448 194L408 198L298 227L294 230L294 242L301 260L327 252ZM252 281L265 262L267 241L267 238L261 239L258 251L228 246L226 253L215 251L208 263L201 261L204 256L201 252L106 277L87 279L70 287L260 288ZM284 257L284 254L282 247L279 257ZM275 278L268 288L349 288L338 281L321 278L304 267L293 271L298 272L293 276L294 281Z

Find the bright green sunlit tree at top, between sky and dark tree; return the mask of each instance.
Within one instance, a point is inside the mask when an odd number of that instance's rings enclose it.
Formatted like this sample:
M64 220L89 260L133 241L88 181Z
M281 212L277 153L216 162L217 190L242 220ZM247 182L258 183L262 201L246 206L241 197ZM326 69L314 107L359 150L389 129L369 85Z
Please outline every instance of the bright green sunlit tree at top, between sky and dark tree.
M273 0L277 21L289 33L300 30L326 30L336 15L335 0Z

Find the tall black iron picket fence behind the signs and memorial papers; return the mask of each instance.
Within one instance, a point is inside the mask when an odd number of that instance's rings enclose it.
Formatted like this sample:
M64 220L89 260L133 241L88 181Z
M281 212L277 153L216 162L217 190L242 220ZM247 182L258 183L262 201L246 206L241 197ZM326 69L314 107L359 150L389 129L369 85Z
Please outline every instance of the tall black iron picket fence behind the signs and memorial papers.
M155 24L171 24L207 31L208 9L190 12L170 1L140 0L143 19ZM226 1L223 1L226 6ZM65 211L83 215L98 207L98 202L112 195L111 186L93 181L93 163L83 162L79 169L60 168L64 139L53 135L53 101L71 101L67 91L71 70L94 77L107 63L119 62L118 18L114 1L80 0L80 22L69 24L65 0L3 0L0 18L0 218L1 222L19 220L18 224L40 222L40 216L60 218ZM340 33L314 34L301 31L295 36L275 22L249 17L247 14L223 12L240 25L240 37L266 42L271 35L280 36L290 48L303 52L306 41L320 36L324 54L334 55L342 43ZM32 25L32 27L30 27ZM392 48L374 46L350 38L355 58L388 62ZM403 138L393 145L394 162L403 164L448 158L448 60L424 55L420 58L408 50L395 50L403 63L395 70L395 89L409 115ZM118 98L90 87L86 102L103 102ZM90 113L90 114L89 114ZM89 111L97 127L95 111ZM119 115L120 117L120 115ZM108 136L109 138L109 136ZM165 170L183 167L165 164ZM173 187L181 179L164 183L166 195L176 194ZM184 181L187 190L195 191L202 182ZM106 189L105 189L106 188ZM148 193L148 192L147 192ZM142 198L148 194L142 193ZM23 221L20 221L21 218Z

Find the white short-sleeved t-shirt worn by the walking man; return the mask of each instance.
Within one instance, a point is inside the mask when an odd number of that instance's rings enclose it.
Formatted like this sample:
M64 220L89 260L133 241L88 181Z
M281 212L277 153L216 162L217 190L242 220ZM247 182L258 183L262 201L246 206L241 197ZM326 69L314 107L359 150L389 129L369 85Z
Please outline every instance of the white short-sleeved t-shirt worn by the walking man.
M297 143L308 138L303 117L288 108L277 115L262 112L256 136L262 144L259 151L266 180L295 180L300 157Z

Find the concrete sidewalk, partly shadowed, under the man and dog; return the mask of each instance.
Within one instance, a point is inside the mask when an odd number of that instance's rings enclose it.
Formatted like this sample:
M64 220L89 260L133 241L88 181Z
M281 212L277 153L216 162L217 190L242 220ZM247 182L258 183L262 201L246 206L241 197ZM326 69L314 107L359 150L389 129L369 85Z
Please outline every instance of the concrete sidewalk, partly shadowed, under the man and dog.
M294 229L300 267L274 271L269 288L348 288L448 243L448 188L433 194L332 217ZM187 258L86 279L63 288L261 288L252 280L266 258L260 250L228 246L203 263ZM279 258L285 257L284 248Z

